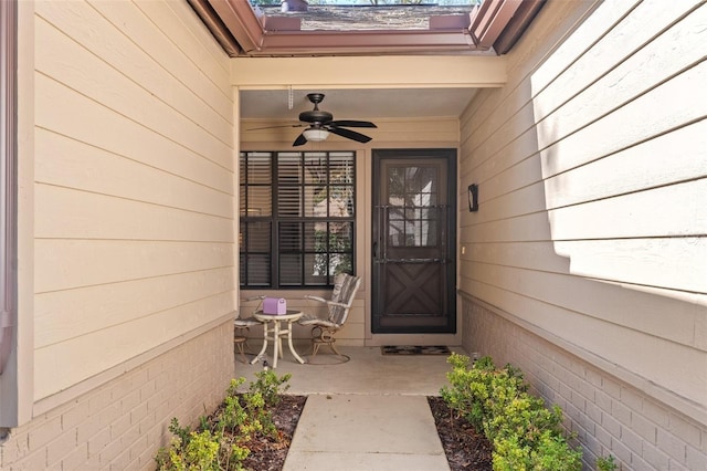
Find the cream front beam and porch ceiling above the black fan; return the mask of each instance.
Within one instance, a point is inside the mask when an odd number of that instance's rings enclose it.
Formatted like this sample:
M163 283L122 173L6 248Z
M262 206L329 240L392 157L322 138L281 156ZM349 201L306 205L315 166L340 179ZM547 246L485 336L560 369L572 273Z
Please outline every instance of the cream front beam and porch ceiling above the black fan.
M337 119L458 117L481 87L506 83L500 56L236 57L242 119L296 119L307 93ZM292 91L293 106L288 106Z

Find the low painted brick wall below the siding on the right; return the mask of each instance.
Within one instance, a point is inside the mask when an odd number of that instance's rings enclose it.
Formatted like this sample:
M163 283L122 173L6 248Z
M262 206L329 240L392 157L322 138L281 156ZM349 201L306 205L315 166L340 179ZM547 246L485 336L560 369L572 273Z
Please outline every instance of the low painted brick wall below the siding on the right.
M584 468L613 454L621 470L707 470L707 426L464 300L463 346L496 365L519 367L532 393L564 412L584 450Z

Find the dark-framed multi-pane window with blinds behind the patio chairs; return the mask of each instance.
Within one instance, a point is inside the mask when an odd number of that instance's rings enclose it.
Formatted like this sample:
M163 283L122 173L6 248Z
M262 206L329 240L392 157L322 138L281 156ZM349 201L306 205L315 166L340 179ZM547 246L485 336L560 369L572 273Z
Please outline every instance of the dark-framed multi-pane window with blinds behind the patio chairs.
M329 287L354 273L352 151L241 154L241 287Z

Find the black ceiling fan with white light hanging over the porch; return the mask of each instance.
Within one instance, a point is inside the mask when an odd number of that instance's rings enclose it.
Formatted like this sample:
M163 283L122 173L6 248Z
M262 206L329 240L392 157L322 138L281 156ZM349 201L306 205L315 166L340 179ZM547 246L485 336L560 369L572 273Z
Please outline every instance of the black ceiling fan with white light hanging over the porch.
M299 134L299 136L297 136L295 142L292 144L293 147L302 146L309 140L325 140L329 137L329 133L359 143L368 143L371 140L369 136L357 133L356 130L347 129L347 127L378 127L373 123L351 119L334 121L334 115L331 113L319 109L319 103L324 100L324 93L309 93L307 94L307 98L314 104L314 109L299 113L299 121L308 124L292 125L292 127L307 127L302 132L302 134Z

